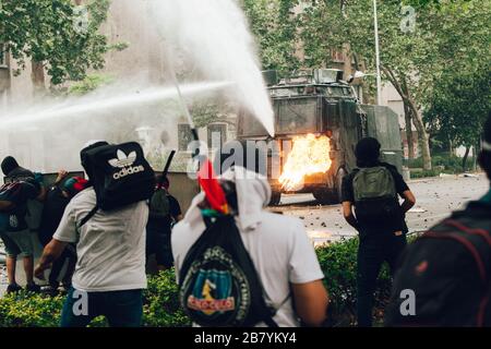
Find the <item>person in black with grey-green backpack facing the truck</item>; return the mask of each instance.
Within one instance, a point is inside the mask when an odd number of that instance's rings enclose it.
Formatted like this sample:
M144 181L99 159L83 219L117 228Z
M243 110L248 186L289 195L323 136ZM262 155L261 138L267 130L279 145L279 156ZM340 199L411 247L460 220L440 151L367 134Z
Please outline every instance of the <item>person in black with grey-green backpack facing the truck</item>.
M416 198L397 169L380 161L381 145L367 137L358 142L358 169L343 179L342 202L346 221L359 232L357 270L358 326L372 325L376 279L384 262L395 272L406 246L405 214ZM400 205L398 195L404 198ZM355 213L354 213L355 212Z

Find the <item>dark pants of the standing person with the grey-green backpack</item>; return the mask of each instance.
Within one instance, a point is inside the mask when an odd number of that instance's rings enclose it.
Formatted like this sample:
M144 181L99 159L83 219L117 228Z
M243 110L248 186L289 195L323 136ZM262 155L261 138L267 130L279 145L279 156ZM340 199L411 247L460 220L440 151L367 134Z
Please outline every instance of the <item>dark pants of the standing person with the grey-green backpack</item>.
M373 298L382 264L387 262L391 274L394 275L398 257L405 246L405 234L366 236L360 239L357 272L358 326L372 326Z

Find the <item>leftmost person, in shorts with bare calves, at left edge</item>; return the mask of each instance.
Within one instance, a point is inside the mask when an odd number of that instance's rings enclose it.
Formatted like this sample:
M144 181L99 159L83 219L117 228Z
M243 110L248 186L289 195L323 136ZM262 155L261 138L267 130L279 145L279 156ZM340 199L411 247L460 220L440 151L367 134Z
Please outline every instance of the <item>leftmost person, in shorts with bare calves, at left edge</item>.
M33 277L34 246L26 215L27 201L40 200L44 196L44 189L40 184L41 177L19 166L12 156L3 159L1 168L9 180L9 183L0 190L0 201L9 203L0 210L0 237L7 252L7 275L9 279L7 292L21 290L15 280L17 257L23 257L26 290L38 292L40 288L34 282Z

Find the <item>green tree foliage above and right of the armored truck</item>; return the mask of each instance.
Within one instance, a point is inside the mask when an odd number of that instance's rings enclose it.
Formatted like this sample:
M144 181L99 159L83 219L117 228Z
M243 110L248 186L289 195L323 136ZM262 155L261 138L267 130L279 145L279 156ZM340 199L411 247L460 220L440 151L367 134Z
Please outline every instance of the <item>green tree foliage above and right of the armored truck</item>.
M254 9L261 8L261 2L244 1ZM274 7L262 7L263 20L259 21L256 15L251 20L253 24L260 24L255 29L253 25L253 32L259 36L261 47L266 48L261 51L264 62L273 61L272 57L275 62L282 59L287 61L291 48L296 48L303 53L297 65L330 67L331 52L337 50L349 55L356 69L361 65L370 73L375 72L372 0L307 0L302 1L301 7L296 1L289 2L296 7L295 15L289 17L289 23L296 26L289 31L295 33L290 37L297 39L294 45L280 45L280 37L277 36L280 26L273 20L278 19ZM432 97L433 94L452 92L452 88L444 87L447 83L442 80L447 80L452 85L456 81L489 76L491 3L478 0L384 0L378 1L378 20L382 77L385 83L393 84L400 95L407 120L418 131L424 167L430 169L429 130L434 129L430 129L426 122L428 119L423 119L424 111L434 112L434 104L441 103L440 98ZM272 67L275 64L267 65ZM366 83L369 93L373 93L374 79L367 77ZM463 107L468 106L463 96L458 100ZM446 117L441 115L441 118ZM479 123L466 125L475 128L474 134L478 132ZM456 142L464 141L456 137Z

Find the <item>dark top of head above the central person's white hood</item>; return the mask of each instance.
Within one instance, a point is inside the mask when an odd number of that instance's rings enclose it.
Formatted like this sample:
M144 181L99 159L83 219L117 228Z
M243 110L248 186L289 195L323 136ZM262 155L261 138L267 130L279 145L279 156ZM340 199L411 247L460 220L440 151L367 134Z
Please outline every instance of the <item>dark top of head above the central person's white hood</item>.
M241 166L250 171L266 176L266 161L267 149L264 146L258 145L253 141L230 141L217 151L214 167L217 174L226 172L233 166Z

